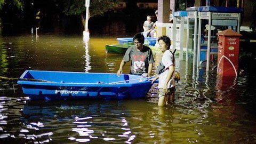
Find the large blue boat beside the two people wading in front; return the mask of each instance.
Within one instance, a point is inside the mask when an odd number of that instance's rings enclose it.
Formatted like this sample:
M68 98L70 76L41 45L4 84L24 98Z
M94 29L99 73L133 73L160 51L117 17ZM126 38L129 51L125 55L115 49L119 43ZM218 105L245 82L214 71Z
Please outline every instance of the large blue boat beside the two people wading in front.
M146 97L151 77L113 73L26 70L18 79L30 99L124 99Z

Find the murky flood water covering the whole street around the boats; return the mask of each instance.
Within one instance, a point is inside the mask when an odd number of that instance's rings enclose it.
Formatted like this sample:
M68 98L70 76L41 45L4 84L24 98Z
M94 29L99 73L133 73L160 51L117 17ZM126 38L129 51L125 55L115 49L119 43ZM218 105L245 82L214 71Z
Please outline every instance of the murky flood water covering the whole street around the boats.
M28 69L116 73L123 55L105 53L116 37L92 34L87 47L81 35L2 36L0 76ZM178 57L175 69L181 80L174 104L163 108L157 84L143 99L31 101L17 80L0 79L0 142L256 143L255 76L221 81L216 71L206 75Z

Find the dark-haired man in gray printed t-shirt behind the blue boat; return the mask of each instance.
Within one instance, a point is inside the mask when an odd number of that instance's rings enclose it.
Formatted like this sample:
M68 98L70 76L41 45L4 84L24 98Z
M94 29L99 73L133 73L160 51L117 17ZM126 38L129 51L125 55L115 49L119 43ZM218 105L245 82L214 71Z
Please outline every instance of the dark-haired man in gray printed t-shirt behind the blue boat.
M142 75L147 73L147 76L151 75L151 70L153 68L153 63L155 62L153 53L151 49L145 45L144 36L141 34L136 34L133 37L134 46L129 47L125 52L124 58L120 64L117 75L120 76L123 73L123 66L126 62L131 60L131 71L133 75Z

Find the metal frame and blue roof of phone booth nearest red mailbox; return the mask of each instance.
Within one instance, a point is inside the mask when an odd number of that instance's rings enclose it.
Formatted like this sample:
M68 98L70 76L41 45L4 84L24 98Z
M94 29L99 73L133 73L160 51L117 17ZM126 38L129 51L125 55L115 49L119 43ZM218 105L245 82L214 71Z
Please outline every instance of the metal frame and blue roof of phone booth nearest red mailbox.
M211 44L211 27L228 26L235 27L233 30L239 33L242 8L239 7L221 7L221 6L200 6L198 7L198 47L197 47L197 66L199 67L201 52L201 29L202 20L208 20L207 51L206 51L206 72L209 71L210 51L218 49L218 44ZM218 53L218 52L217 52Z

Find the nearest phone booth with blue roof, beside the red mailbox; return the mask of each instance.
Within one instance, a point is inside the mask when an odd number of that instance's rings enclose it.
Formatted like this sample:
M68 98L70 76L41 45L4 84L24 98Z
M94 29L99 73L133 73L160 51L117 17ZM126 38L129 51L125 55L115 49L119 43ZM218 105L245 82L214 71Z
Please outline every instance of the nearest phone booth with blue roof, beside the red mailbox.
M200 6L198 7L197 66L206 60L206 71L210 67L210 54L218 54L216 33L233 29L239 33L241 23L240 7Z

